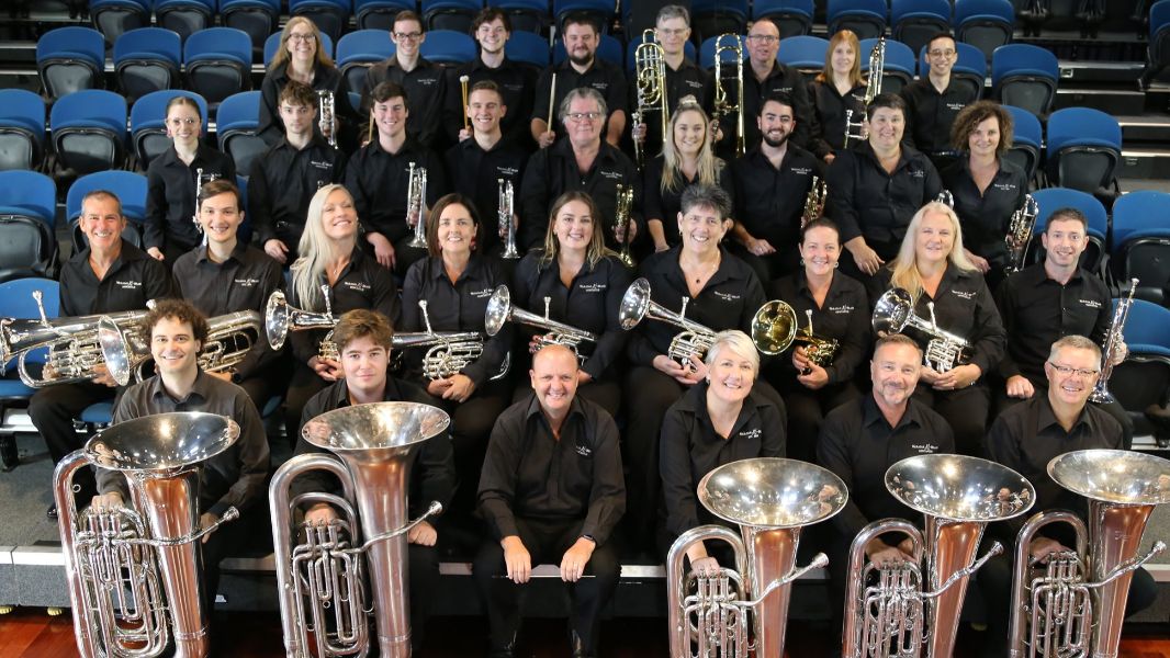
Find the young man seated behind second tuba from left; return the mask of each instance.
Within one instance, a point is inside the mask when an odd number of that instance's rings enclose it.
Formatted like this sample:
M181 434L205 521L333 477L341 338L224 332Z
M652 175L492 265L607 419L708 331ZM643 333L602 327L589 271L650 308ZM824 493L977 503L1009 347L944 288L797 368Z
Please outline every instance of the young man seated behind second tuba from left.
M377 311L355 309L337 320L333 340L342 356L342 372L345 379L329 385L304 406L302 423L305 425L305 431L314 430L315 417L351 404L433 402L418 386L388 374L393 335L390 320ZM296 453L308 452L324 452L324 450L314 446L303 436L297 437ZM339 489L336 478L324 471L314 470L292 483L290 494L296 497L316 491L338 493ZM439 436L433 441L422 442L414 452L411 466L407 494L411 504L410 517L413 519L421 515L432 500L438 500L446 507L454 493L455 462L452 459L450 439L447 436ZM315 504L304 514L304 520L310 524L328 524L337 518L337 511L326 503ZM441 519L427 520L411 528L406 535L410 542L411 568L411 644L415 651L422 645L429 602L440 588L439 555L435 550L439 529Z

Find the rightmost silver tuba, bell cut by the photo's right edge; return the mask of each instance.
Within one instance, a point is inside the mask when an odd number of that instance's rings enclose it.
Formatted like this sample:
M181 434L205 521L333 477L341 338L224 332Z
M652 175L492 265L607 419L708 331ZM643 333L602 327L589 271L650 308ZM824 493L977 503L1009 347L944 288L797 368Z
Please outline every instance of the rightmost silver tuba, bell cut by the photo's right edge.
M1016 547L1009 656L1116 658L1133 573L1165 550L1155 541L1137 555L1154 507L1170 503L1170 460L1128 450L1079 450L1048 462L1048 476L1088 499L1088 527L1064 511L1041 512L1024 525ZM1051 555L1037 573L1028 545L1054 522L1069 524L1078 546Z

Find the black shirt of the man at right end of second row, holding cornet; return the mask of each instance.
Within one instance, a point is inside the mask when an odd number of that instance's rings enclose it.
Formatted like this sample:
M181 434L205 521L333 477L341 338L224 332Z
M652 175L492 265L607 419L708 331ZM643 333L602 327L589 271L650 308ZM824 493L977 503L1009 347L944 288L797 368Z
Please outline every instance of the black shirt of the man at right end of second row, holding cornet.
M1044 263L1028 265L999 285L996 303L1007 331L999 374L1005 381L1023 375L1033 386L1047 386L1044 362L1053 342L1083 335L1101 345L1113 318L1104 282L1080 268L1062 285L1048 277Z

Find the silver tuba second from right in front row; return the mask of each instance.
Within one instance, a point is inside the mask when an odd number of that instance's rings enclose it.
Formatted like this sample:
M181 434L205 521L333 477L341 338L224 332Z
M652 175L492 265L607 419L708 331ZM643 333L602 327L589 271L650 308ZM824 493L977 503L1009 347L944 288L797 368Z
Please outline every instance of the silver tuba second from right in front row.
M901 519L883 519L854 538L841 654L950 658L968 579L1003 552L993 542L976 560L984 529L989 522L1027 512L1035 489L1006 466L962 455L902 459L886 471L886 489L922 512L925 531ZM911 540L913 561L867 563L866 545L886 533Z

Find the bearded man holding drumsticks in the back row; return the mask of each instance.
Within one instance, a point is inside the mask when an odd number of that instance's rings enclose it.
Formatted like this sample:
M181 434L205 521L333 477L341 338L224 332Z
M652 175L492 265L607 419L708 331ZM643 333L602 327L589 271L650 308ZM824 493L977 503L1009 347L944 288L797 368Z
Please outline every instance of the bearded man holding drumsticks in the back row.
M550 125L549 112L560 108L569 92L589 88L598 92L603 106L608 108L603 117L605 140L617 146L626 130L626 76L621 67L598 58L601 44L601 28L585 13L572 13L562 28L567 57L560 64L544 69L536 81L536 97L532 99L532 119L529 130L541 148L552 146L560 137ZM556 76L556 89L552 79ZM542 236L543 238L543 236Z

